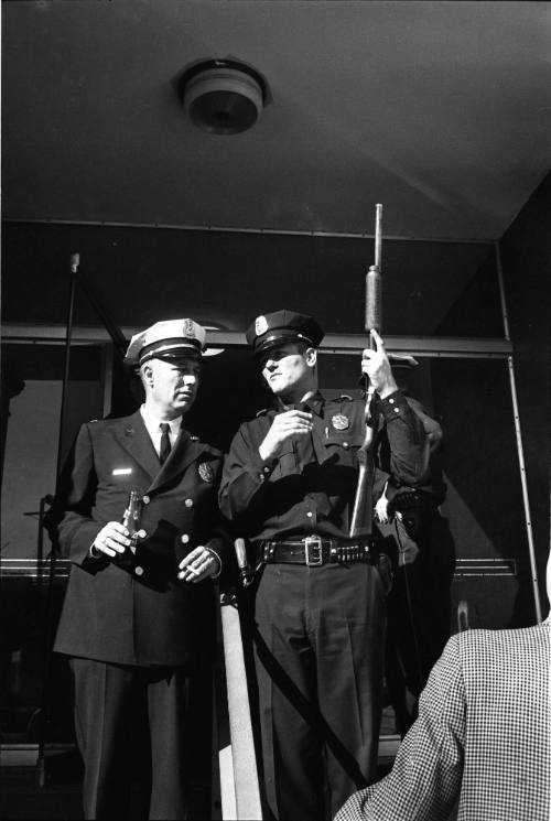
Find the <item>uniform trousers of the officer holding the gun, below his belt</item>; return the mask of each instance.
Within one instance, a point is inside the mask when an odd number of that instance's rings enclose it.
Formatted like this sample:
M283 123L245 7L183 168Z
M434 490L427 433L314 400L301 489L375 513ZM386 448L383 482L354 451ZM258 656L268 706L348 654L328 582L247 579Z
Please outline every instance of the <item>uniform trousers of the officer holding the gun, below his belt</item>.
M263 566L253 640L266 801L279 821L333 818L375 780L385 626L371 564Z

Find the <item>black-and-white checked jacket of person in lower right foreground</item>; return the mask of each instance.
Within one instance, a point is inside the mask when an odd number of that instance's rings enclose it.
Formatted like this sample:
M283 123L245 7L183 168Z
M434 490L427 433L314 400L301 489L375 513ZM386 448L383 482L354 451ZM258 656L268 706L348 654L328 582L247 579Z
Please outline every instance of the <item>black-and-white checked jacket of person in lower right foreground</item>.
M335 821L549 821L551 624L453 636L391 773Z

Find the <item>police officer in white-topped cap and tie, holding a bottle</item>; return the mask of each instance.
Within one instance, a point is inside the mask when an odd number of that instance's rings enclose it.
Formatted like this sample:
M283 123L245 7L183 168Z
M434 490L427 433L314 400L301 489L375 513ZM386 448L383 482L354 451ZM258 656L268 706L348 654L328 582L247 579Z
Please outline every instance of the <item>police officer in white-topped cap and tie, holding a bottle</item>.
M188 813L188 672L207 640L202 614L225 550L220 453L185 430L204 344L190 318L132 337L126 363L139 370L145 400L130 417L82 426L48 517L72 561L54 649L74 672L86 819L128 815L137 705L151 739L149 818ZM133 539L122 521L130 491Z

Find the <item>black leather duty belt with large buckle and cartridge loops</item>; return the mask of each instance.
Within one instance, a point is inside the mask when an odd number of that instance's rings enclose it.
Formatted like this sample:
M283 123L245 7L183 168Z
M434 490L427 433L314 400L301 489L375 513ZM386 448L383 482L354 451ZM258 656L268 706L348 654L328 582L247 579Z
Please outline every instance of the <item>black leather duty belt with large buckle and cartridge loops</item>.
M307 536L296 541L264 541L261 560L267 564L305 564L320 568L323 564L355 564L376 562L376 552L368 541L356 539L322 539Z

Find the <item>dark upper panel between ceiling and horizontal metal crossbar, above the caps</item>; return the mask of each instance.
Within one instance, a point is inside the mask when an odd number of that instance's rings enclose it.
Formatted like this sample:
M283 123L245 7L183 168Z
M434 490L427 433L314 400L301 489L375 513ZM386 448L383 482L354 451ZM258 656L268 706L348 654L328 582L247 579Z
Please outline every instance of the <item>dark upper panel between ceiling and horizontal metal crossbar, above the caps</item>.
M488 249L385 239L385 333L433 335ZM314 313L327 333L364 331L368 238L32 223L3 225L3 320L63 323L76 251L82 273L121 326L193 316L245 331L258 314L292 307ZM462 318L461 335L475 335L471 314ZM75 322L95 322L85 300L77 300ZM480 335L498 333L487 322Z

